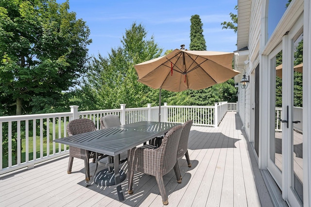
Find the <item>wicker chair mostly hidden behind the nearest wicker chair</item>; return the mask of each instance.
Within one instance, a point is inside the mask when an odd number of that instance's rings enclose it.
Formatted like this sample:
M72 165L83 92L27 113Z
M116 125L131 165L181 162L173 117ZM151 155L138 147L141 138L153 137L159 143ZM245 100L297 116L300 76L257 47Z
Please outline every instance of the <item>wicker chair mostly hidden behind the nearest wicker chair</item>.
M178 183L181 183L181 179L182 179L182 176L180 174L180 169L178 166L178 159L186 156L188 167L191 167L190 158L188 154L188 140L189 140L189 134L190 134L192 123L193 121L189 120L182 125L183 131L181 132L181 135L180 135L180 140L179 140L178 150L177 150L177 159L176 159L176 164L174 167L174 171L175 171L175 175L176 175L176 179Z

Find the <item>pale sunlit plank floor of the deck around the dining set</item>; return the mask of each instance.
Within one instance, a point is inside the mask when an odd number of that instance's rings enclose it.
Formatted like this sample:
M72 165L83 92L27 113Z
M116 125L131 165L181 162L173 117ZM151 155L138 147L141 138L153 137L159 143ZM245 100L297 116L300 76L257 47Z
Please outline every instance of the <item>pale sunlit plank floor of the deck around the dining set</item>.
M179 160L182 183L173 170L164 176L169 206L172 207L271 207L254 153L241 129L236 112L227 112L220 126L192 126L189 155ZM0 176L0 206L162 206L155 177L134 175L134 194L127 193L127 179L122 183L125 196L119 202L115 186L86 186L84 163L74 159L72 174L67 174L68 156ZM126 162L122 169L127 170ZM91 174L95 164L90 163Z

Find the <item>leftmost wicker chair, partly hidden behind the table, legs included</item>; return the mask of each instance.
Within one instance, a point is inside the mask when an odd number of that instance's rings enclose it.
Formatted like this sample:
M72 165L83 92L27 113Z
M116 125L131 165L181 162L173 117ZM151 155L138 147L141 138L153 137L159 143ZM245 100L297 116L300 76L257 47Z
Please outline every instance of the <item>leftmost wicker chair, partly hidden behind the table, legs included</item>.
M82 134L90 131L97 130L93 121L90 119L74 119L69 121L67 125L68 136ZM89 176L89 159L95 158L95 152L90 152L85 149L81 149L74 146L69 146L69 163L67 173L71 173L73 158L84 159L84 165L86 169L86 181L90 180Z

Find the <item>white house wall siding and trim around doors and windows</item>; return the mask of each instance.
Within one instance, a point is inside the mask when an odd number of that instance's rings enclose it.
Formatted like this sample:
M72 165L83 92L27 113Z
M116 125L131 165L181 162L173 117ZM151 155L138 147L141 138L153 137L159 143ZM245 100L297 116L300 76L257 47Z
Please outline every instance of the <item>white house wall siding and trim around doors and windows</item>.
M304 206L311 206L311 3L310 0L292 0L292 3L287 10L287 15L284 15L276 27L275 32L270 36L268 42L266 42L267 32L265 31L265 21L268 18L265 15L266 5L269 0L238 0L239 11L238 17L238 50L235 59L235 69L247 73L252 77L250 79L249 86L246 90L239 87L238 96L238 111L242 119L245 132L252 141L252 134L254 133L254 127L250 126L254 124L252 108L254 95L254 76L251 74L254 72L256 66L259 65L260 76L260 95L259 95L259 168L261 170L267 170L267 159L269 153L267 152L268 143L270 140L271 120L273 109L269 111L270 107L270 68L268 68L268 55L270 52L282 42L282 38L287 31L292 30L292 27L296 24L298 17L304 12L304 69L303 69L303 188L304 188ZM303 5L303 6L302 6ZM247 16L246 14L249 14ZM247 23L248 22L248 25ZM248 29L248 32L245 30ZM286 40L286 37L285 37ZM289 44L285 42L285 44ZM247 52L244 51L247 46ZM284 47L284 43L283 43ZM286 48L286 46L285 46ZM247 60L247 61L245 61ZM246 63L246 64L245 64ZM287 62L288 63L288 62ZM242 76L236 79L236 82L241 80ZM240 79L240 80L239 80ZM308 85L305 84L308 82ZM259 83L256 83L259 84ZM252 88L253 87L253 88ZM252 97L252 98L251 98ZM286 144L285 146L287 146ZM261 147L261 150L260 150ZM291 154L286 154L285 148L283 156L290 158ZM287 160L287 159L286 159ZM285 168L282 173L283 186L281 187L282 198L287 200L291 206L299 206L299 204L293 200L291 201L291 194L289 194L291 188L291 181L288 178L290 172L290 165L284 162ZM285 187L284 187L285 186ZM275 190L273 190L275 191ZM276 190L277 191L277 190Z

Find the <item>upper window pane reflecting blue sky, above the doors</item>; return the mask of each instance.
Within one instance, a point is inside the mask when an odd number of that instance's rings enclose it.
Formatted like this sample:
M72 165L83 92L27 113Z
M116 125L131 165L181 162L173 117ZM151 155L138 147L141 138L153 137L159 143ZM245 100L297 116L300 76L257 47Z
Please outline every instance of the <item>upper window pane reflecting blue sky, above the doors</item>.
M268 7L268 38L276 29L291 0L269 0Z

